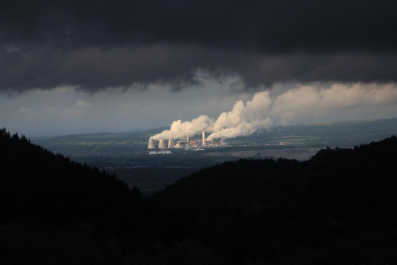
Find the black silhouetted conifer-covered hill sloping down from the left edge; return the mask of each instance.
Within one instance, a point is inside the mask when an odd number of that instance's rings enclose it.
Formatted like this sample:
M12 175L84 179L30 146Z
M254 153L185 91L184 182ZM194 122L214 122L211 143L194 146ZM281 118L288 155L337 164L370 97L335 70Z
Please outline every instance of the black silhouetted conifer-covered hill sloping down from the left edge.
M0 264L121 264L183 234L178 218L115 175L5 128L0 150Z

